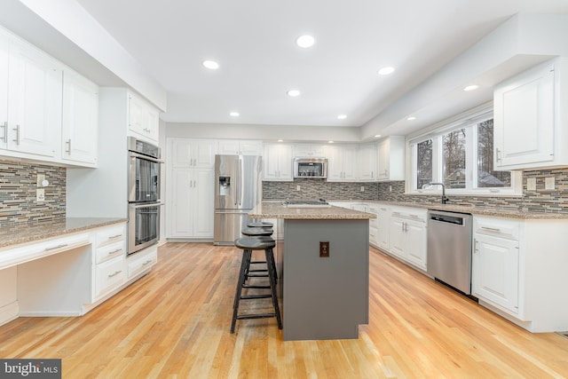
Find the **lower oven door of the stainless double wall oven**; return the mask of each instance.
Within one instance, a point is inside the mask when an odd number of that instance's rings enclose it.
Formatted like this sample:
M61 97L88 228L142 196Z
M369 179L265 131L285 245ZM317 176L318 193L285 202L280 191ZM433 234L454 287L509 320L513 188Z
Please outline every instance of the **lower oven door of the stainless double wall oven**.
M128 254L158 243L162 202L129 204Z

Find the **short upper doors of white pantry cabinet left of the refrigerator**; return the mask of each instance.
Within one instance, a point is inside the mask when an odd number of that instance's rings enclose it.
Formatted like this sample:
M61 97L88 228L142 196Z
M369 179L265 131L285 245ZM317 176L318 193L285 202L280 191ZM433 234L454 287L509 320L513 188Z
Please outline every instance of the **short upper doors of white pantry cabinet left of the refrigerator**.
M166 164L174 169L212 169L217 150L216 139L168 138L170 159Z

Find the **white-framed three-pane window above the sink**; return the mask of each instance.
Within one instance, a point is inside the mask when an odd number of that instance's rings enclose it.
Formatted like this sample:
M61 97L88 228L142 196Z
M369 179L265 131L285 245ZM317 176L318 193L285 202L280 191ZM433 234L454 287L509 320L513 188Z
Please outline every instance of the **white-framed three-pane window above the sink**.
M411 193L430 194L431 190L424 189L424 185L432 182L444 183L449 193L515 194L521 191L517 187L521 181L518 173L493 170L493 114L490 112L411 138L410 148L414 170L407 190Z

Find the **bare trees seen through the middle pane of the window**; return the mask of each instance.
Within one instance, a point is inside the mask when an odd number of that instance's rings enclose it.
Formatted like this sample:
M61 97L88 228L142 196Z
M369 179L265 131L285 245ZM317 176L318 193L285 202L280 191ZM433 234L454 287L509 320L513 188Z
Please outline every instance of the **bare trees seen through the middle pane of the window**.
M446 188L465 188L465 129L451 131L442 137L442 178Z

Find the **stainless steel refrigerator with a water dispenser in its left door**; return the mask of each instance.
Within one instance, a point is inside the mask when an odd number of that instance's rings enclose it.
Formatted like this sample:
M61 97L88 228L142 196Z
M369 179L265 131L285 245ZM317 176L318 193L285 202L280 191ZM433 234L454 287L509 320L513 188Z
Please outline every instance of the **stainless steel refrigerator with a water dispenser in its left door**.
M233 245L247 225L248 212L262 200L260 156L215 156L215 225L213 242Z

